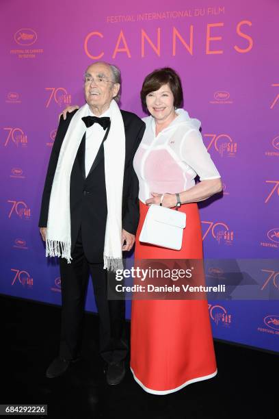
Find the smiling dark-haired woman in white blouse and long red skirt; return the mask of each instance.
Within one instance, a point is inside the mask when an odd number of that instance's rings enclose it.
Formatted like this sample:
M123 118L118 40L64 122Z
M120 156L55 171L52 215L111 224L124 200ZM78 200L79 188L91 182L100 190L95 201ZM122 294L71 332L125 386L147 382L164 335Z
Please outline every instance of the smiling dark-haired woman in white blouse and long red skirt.
M135 153L139 179L139 227L135 259L202 259L198 201L222 190L222 182L200 135L200 121L181 109L181 79L172 68L144 79L142 105L146 131ZM64 111L75 108L68 107ZM195 177L200 182L195 184ZM139 242L148 205L175 207L187 216L181 251ZM131 371L152 394L169 394L217 374L207 301L133 300Z

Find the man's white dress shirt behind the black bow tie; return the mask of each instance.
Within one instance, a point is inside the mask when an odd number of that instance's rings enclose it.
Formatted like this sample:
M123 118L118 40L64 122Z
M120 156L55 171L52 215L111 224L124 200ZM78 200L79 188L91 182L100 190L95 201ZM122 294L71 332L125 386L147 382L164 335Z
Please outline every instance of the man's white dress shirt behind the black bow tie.
M93 114L90 110L88 116L97 116ZM109 109L107 109L103 114L97 116L101 118L103 116L110 116ZM85 138L85 176L88 176L90 168L96 158L98 149L102 144L102 140L105 136L107 129L103 129L100 124L94 123L91 127L86 129L86 138Z

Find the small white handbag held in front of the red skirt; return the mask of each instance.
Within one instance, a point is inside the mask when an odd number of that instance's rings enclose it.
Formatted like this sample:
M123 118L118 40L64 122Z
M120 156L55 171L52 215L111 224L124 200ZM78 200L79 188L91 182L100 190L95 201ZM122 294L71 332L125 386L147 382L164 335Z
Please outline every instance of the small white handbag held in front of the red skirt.
M161 196L161 202L163 195ZM177 207L176 207L177 209ZM181 250L183 229L186 227L185 212L178 212L160 205L150 205L139 242Z

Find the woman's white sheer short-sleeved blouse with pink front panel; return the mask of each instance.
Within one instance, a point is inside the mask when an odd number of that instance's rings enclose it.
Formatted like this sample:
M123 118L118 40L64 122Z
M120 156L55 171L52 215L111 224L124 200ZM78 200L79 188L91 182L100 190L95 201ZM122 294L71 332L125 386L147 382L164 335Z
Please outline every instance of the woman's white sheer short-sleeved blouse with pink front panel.
M150 192L182 192L200 180L217 179L220 174L204 146L200 121L183 110L155 136L155 120L142 118L146 130L135 153L133 166L139 179L139 199L145 203Z

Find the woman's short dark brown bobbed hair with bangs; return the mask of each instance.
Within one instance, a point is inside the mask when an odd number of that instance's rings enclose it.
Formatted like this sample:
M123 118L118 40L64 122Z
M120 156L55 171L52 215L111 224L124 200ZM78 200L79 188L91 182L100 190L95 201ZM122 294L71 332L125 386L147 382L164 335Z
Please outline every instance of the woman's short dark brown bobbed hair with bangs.
M164 84L170 86L172 94L174 95L174 107L181 107L183 104L183 91L181 86L181 78L176 71L170 67L158 68L152 71L144 79L140 98L142 99L142 106L146 110L146 95L150 92L155 92Z

